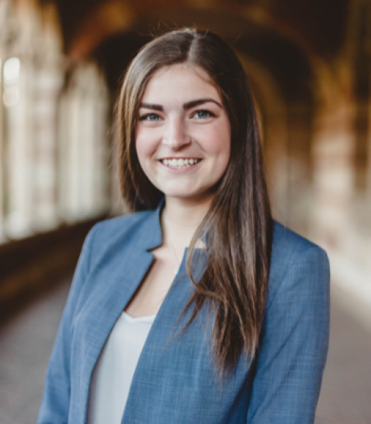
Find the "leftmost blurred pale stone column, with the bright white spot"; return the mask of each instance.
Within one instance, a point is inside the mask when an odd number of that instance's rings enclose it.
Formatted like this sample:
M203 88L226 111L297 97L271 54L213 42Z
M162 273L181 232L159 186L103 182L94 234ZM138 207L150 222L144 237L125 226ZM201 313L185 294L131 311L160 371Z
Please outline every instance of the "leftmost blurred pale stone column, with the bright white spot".
M3 102L6 126L6 235L33 232L33 81L37 9L19 1L13 8L4 63Z

